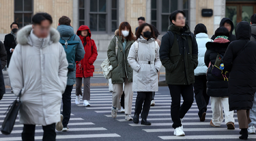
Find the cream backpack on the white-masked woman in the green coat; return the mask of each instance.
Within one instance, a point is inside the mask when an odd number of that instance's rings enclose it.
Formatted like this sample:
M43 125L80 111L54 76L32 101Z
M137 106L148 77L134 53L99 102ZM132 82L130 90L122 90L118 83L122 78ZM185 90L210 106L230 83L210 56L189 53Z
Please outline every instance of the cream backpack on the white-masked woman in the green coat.
M114 36L114 37L116 37L116 36ZM118 39L116 37L116 56L117 56L117 49L118 49ZM111 78L111 72L108 69L110 65L111 64L110 64L109 58L106 58L105 61L103 61L101 64L101 69L102 69L105 79Z

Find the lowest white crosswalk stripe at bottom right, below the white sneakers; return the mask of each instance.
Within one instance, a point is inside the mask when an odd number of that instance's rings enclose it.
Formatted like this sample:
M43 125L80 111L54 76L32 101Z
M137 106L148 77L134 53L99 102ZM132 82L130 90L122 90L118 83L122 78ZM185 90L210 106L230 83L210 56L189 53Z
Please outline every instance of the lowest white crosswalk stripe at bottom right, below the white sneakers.
M193 136L158 136L163 140L195 140L195 139L239 139L241 135L193 135ZM248 139L256 138L256 135L249 135Z

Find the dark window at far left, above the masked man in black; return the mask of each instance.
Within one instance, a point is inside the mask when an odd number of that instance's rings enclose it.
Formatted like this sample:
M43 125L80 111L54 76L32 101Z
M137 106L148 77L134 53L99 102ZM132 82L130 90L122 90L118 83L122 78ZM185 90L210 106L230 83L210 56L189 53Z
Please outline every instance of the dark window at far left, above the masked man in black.
M33 0L14 1L14 21L23 27L31 24L33 15Z

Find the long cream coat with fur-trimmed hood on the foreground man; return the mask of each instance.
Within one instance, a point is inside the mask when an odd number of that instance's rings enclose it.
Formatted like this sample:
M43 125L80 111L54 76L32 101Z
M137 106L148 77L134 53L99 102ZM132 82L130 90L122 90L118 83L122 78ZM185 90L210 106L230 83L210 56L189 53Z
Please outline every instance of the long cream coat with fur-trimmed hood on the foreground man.
M15 95L22 90L19 119L22 124L50 125L60 121L61 98L67 84L68 61L51 28L45 39L34 35L32 25L17 33L18 45L8 73Z

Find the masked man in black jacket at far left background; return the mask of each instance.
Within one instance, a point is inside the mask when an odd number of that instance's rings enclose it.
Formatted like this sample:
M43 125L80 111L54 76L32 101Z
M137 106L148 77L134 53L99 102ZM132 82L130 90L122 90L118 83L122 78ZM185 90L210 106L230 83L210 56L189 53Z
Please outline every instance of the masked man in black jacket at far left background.
M11 60L11 55L18 44L16 41L16 33L19 30L19 25L16 22L13 22L11 24L11 33L7 34L4 37L4 47L7 52L7 68L9 66L10 60Z

